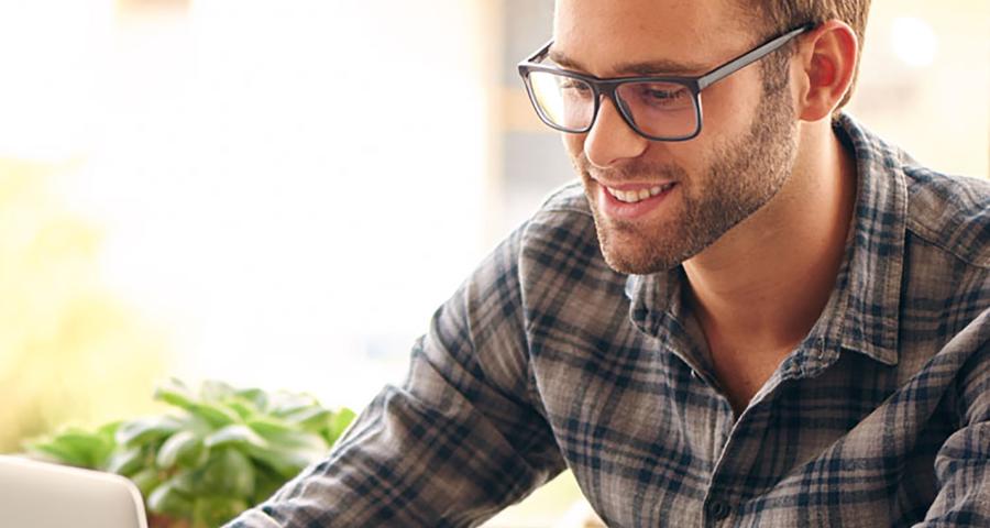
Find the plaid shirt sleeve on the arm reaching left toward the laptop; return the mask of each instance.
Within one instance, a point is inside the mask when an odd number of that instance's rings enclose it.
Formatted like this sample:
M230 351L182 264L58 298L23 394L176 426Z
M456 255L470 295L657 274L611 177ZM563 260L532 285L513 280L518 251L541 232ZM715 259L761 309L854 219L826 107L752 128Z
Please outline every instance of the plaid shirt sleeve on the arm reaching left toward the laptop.
M228 526L476 526L562 471L527 360L521 233L436 312L403 386Z

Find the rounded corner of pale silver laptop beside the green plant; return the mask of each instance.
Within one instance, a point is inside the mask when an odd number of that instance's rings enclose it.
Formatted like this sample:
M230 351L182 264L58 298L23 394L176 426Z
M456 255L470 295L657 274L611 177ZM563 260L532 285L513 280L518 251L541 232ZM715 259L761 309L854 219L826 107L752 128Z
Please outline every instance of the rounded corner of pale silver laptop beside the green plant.
M0 455L0 526L147 528L134 484L119 475Z

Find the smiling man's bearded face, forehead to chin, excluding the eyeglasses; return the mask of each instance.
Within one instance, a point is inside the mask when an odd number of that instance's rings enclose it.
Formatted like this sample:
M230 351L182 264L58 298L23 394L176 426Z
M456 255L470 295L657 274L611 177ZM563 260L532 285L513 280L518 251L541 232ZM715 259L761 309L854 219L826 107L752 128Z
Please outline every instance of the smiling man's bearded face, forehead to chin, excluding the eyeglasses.
M551 57L598 77L657 63L658 75L701 75L767 36L747 32L733 1L558 0ZM564 134L609 266L670 270L773 198L796 132L790 91L765 92L761 79L750 65L703 91L702 132L686 142L636 135L607 100L588 133Z

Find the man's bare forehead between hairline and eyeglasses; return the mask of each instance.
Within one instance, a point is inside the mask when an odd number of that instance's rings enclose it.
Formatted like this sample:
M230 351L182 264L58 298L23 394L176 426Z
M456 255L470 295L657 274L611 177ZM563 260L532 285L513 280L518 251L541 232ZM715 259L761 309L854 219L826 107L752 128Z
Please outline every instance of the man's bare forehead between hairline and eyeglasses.
M640 63L703 73L745 51L737 1L557 0L551 55L598 76Z

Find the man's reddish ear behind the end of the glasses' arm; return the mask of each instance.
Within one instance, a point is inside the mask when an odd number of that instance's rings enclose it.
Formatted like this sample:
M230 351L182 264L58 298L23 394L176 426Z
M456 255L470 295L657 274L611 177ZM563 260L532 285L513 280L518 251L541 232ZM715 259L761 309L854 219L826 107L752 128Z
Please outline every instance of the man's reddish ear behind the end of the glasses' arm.
M791 73L798 76L794 101L802 120L832 116L851 88L858 50L856 33L838 20L824 22L801 38Z

